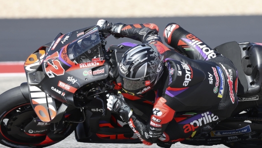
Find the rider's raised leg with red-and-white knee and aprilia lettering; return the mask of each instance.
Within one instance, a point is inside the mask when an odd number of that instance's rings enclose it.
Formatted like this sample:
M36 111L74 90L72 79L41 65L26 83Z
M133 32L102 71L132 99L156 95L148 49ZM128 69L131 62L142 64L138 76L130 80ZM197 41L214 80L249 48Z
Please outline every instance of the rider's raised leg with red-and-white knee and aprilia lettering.
M176 23L167 24L164 30L164 40L169 46L186 54L190 59L209 60L221 56L202 40Z

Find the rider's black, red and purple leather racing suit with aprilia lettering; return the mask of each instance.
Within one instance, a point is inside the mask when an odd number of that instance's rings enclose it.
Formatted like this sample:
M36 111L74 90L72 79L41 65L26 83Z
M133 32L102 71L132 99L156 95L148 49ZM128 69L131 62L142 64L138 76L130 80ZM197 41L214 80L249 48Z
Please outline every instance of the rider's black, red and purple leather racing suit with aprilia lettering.
M117 30L115 37L153 44L165 56L150 119L145 122L133 114L128 122L145 145L157 139L174 142L193 138L199 130L212 129L213 123L229 117L236 108L236 68L195 35L176 23L168 24L164 40L175 49L171 50L162 43L155 24L122 24Z

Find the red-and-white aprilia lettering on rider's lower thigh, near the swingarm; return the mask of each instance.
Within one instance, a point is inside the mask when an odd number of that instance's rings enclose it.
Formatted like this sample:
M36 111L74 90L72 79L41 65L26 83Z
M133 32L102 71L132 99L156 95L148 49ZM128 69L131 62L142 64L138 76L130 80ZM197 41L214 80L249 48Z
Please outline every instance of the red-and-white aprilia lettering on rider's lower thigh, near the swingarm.
M186 124L183 126L183 129L185 133L188 133L188 132L194 132L195 129L197 129L199 126L202 126L202 125L206 125L210 122L213 122L213 121L217 121L218 120L218 117L217 116L214 116L214 114L209 114L209 112L205 112L203 114L201 114L201 118L197 119L197 120L194 120L192 121L190 124Z

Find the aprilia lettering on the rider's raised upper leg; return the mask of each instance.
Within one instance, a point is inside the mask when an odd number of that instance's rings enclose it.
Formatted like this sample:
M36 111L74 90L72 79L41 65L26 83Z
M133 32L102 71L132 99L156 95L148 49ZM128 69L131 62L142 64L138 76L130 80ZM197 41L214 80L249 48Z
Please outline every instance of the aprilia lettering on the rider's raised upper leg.
M186 37L187 39L182 39L186 41L192 48L195 48L205 60L216 57L214 50L208 48L205 44L202 44L203 42L196 38L196 36L194 36L193 34L188 34Z

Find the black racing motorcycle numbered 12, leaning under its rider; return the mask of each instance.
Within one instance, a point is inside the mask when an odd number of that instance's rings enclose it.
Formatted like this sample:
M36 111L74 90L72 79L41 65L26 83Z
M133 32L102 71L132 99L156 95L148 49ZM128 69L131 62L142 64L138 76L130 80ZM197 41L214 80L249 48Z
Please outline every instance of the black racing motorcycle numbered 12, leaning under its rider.
M76 141L82 143L140 144L129 125L106 107L106 94L121 89L119 61L136 44L111 45L106 50L106 43L100 27L91 26L60 33L31 54L24 63L27 82L0 95L0 144L43 148L64 140L73 131ZM214 50L237 67L238 106L211 132L181 143L261 148L262 44L228 42ZM147 120L154 103L150 98L154 97L122 94L134 112ZM169 141L165 133L159 140Z

